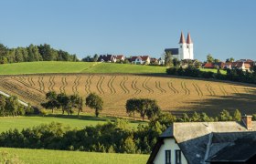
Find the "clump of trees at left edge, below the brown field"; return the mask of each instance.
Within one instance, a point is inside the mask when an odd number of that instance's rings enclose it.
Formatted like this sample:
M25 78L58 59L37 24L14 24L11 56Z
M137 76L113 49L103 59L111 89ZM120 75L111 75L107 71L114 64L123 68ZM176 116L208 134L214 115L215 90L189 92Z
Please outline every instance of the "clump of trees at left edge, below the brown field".
M5 97L0 95L0 116L23 116L39 114L40 111L37 108L32 108L30 104L27 107L21 105L18 102L16 96Z

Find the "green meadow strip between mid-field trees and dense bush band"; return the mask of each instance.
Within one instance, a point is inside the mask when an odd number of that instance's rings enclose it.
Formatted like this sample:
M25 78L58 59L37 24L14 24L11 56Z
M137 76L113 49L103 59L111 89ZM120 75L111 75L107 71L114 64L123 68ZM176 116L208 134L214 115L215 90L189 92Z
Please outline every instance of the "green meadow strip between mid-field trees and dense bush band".
M85 126L95 126L97 124L106 123L108 120L115 120L116 118L105 118L94 116L67 116L56 115L46 117L0 117L0 132L6 131L10 128L32 128L40 124L48 124L50 122L59 122L63 125L70 126L71 128L84 128ZM131 128L136 128L138 124L144 123L143 121L130 120Z

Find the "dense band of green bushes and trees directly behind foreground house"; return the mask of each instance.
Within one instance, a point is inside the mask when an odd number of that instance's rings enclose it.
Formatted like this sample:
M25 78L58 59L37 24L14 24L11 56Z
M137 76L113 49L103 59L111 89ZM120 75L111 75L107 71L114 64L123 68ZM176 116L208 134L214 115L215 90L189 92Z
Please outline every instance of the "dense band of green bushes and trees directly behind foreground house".
M28 149L65 149L117 153L150 153L157 137L173 122L240 121L240 111L233 114L223 110L217 118L206 113L194 113L176 118L170 113L159 113L148 124L130 128L126 119L117 119L95 127L82 129L64 127L59 123L25 128L21 131L10 129L0 134L0 147ZM253 115L253 119L255 116Z

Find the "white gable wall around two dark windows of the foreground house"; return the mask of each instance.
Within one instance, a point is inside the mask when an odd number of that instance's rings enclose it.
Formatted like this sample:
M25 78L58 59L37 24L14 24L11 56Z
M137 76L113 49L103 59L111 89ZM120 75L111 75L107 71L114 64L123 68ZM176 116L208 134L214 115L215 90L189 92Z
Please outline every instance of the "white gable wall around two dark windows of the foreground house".
M155 164L165 164L165 150L171 150L171 160L172 164L176 164L176 149L179 149L174 138L165 138L164 144L159 149L157 155L155 156ZM187 164L187 159L185 159L183 153L181 152L181 162L182 164Z

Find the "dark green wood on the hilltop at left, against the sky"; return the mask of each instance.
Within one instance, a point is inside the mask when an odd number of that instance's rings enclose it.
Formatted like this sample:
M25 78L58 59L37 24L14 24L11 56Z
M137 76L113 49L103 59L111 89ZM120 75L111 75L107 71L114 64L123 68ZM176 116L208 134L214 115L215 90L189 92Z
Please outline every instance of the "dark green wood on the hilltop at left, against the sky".
M57 50L48 44L27 47L8 48L0 44L0 63L18 63L32 61L78 61L76 55Z

